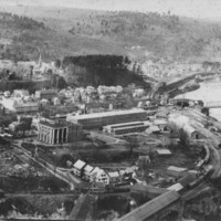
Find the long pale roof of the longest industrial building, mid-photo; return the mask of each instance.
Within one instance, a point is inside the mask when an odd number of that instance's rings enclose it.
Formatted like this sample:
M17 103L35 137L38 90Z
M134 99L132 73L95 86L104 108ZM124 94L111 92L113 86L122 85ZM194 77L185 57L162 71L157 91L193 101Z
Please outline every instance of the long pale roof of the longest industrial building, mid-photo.
M114 110L114 112L102 112L102 113L92 113L92 114L84 114L84 115L75 115L69 116L69 119L87 119L87 118L102 118L108 116L118 116L118 115L126 115L126 114L146 114L144 109L127 109L127 110Z

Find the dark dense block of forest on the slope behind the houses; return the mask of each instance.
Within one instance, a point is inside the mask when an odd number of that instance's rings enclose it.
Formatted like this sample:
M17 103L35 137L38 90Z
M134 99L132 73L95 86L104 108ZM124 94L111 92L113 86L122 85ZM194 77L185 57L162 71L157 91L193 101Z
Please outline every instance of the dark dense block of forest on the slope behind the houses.
M148 86L141 76L129 71L127 56L117 55L85 55L66 56L63 60L66 70L66 82L81 85L122 85L131 83Z

